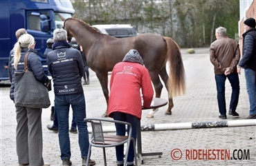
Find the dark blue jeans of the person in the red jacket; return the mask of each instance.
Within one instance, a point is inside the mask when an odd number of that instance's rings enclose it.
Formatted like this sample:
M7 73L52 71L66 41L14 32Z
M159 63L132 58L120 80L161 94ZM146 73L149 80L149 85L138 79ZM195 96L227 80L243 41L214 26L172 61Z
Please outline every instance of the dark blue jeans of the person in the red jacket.
M125 114L122 112L113 112L113 119L117 121L125 121L131 123L132 132L131 137L136 141L137 138L137 125L140 119L131 114ZM127 133L129 133L129 127L127 128ZM125 125L116 124L116 135L117 136L125 136ZM116 159L117 164L124 163L124 145L120 145L116 147ZM131 143L129 146L129 154L127 157L127 165L131 165L134 163L134 145Z

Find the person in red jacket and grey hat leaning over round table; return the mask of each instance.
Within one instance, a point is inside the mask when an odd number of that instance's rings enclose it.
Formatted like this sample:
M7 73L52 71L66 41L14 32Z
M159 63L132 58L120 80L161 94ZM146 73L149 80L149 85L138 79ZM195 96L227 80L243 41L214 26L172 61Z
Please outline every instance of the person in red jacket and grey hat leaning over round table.
M143 95L143 103L141 94ZM142 105L150 107L154 90L147 68L137 50L129 50L111 74L108 116L131 123L131 136L136 140ZM128 132L129 133L129 128ZM116 124L116 135L125 136L125 125ZM124 145L116 147L118 166L124 165ZM134 146L130 144L127 165L134 165Z

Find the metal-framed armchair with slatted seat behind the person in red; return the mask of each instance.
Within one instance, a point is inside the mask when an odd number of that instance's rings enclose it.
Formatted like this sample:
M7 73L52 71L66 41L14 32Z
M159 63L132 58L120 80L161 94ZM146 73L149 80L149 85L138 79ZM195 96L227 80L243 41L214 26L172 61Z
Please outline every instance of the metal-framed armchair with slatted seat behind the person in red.
M103 149L103 155L104 155L104 165L107 166L107 160L106 160L106 152L105 147L116 147L118 145L122 145L127 143L126 153L125 153L125 160L124 165L127 165L127 157L129 152L129 145L132 141L134 144L134 158L135 158L135 165L137 166L137 157L136 157L136 145L134 138L131 137L131 131L132 127L130 123L123 122L123 121L115 121L110 120L106 118L84 118L85 122L91 123L92 133L91 138L89 141L89 152L86 160L86 165L89 165L89 160L91 157L91 147L102 147ZM129 125L129 134L128 136L116 136L116 135L110 135L110 134L104 134L102 129L102 122L109 122L109 123L120 123Z

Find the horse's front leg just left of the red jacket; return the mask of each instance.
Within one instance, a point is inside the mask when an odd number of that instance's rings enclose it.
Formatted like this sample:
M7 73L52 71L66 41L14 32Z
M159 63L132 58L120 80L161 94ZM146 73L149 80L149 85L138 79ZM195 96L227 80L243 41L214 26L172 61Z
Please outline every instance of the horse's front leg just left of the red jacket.
M106 99L107 107L109 106L109 89L107 87L108 84L108 74L107 72L96 72L96 76L98 77L100 81L100 85L102 87L102 91L104 94L104 97ZM102 114L102 118L107 117L107 109L105 110L104 114Z

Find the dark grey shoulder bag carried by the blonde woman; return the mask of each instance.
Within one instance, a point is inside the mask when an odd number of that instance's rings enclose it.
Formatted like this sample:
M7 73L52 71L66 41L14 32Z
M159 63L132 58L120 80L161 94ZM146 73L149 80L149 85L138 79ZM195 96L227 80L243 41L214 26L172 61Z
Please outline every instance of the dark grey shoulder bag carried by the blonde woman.
M28 70L28 54L24 59L24 72L15 72L15 105L47 108L51 105L47 87Z

